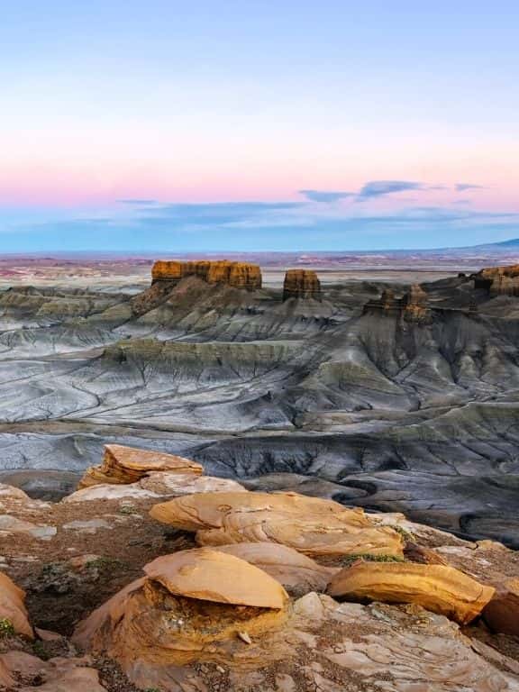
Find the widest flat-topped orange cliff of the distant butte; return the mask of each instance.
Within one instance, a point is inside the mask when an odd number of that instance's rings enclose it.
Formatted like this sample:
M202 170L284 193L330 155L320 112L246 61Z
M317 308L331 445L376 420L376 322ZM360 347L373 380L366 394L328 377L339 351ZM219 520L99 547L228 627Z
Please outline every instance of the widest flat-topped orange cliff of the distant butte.
M151 284L178 284L183 278L196 276L208 284L226 284L235 288L261 288L261 269L249 262L229 259L183 262L159 259L151 269Z

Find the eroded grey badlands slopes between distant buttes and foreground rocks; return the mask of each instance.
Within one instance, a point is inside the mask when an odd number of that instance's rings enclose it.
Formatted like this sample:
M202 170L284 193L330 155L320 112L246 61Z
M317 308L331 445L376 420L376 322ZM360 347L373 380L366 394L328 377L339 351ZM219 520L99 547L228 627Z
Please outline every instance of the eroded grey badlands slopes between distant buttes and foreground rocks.
M59 493L121 442L519 548L519 298L444 279L405 315L382 289L8 290L2 479Z

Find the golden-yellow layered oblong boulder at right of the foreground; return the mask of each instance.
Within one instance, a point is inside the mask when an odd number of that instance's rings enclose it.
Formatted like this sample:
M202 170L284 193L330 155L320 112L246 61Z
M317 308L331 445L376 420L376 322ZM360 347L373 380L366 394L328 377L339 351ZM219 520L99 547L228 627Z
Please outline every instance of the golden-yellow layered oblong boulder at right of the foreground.
M460 624L480 615L495 590L453 567L363 560L342 569L328 587L336 598L414 603Z

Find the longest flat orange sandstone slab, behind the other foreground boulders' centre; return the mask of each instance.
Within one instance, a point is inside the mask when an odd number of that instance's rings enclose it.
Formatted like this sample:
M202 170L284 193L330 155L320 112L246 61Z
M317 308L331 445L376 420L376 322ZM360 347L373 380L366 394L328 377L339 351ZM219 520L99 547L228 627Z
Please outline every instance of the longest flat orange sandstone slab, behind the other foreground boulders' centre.
M199 545L287 545L311 557L356 553L403 557L402 536L358 509L296 493L218 493L178 497L152 507L164 524L196 532Z

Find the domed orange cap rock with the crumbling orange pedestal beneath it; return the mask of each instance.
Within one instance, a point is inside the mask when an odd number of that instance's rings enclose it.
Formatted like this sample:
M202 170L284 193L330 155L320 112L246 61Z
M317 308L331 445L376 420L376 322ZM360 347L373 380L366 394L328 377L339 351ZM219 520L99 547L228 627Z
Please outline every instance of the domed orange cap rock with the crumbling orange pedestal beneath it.
M146 577L98 608L73 636L79 646L117 660L133 679L146 664L229 665L232 647L243 659L240 633L253 638L287 621L284 588L232 555L180 551L153 560L144 571Z

